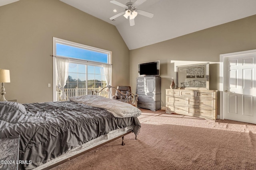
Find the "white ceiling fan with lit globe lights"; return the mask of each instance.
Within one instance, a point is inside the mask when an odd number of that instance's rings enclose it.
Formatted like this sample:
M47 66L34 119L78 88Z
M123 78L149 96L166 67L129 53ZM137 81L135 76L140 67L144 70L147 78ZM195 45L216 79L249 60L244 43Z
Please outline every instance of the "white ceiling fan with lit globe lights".
M130 21L130 26L135 25L134 22L134 18L140 14L142 16L146 16L149 18L152 18L154 16L154 14L150 13L150 12L146 12L146 11L142 11L142 10L138 10L136 7L139 6L140 4L142 4L143 2L145 2L146 0L137 0L136 2L127 2L125 5L117 2L116 0L111 0L110 2L112 4L116 4L118 6L123 7L125 10L120 12L119 14L116 14L115 16L112 16L111 18L109 18L110 20L114 21L115 18L123 15L126 19L129 18Z

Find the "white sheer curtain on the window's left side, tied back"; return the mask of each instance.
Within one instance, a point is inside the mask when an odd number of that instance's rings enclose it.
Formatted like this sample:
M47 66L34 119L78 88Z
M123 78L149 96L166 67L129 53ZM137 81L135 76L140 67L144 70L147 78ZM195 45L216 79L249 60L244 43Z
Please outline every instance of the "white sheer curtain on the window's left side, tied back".
M60 82L60 100L66 100L67 96L64 93L64 86L66 85L68 78L68 64L69 61L66 58L56 57L56 68L58 74L58 80Z

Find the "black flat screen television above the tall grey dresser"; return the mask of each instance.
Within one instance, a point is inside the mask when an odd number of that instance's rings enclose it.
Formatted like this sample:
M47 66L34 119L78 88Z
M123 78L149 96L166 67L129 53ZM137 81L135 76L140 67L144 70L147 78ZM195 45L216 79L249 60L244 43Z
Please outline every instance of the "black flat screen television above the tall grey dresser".
M139 76L159 76L159 61L139 64Z

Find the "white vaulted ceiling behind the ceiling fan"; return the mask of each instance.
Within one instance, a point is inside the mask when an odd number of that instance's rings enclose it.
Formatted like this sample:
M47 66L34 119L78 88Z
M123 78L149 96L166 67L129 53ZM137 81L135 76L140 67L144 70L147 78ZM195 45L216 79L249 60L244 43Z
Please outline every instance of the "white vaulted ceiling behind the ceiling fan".
M1 0L1 4L15 1ZM130 50L256 14L256 0L146 0L137 8L153 13L154 17L138 14L135 25L130 26L123 16L109 20L124 10L110 0L60 1L115 25Z

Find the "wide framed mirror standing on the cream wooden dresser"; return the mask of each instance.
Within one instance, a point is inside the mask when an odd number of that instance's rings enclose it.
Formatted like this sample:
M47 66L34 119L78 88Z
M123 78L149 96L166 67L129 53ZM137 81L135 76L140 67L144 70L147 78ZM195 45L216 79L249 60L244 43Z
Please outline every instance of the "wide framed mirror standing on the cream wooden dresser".
M176 66L176 86L181 89L209 90L210 63Z

